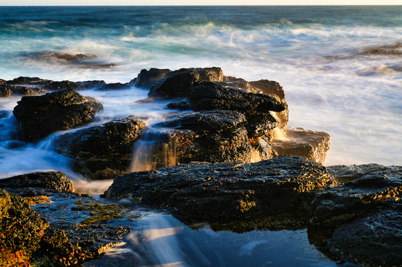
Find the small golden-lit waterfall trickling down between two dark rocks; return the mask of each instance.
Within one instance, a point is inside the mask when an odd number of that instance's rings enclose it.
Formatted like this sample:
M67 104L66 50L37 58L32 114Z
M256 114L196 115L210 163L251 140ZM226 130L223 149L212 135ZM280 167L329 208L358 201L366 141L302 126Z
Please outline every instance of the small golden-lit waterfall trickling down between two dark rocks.
M148 127L134 144L132 172L176 165L176 144L165 128Z

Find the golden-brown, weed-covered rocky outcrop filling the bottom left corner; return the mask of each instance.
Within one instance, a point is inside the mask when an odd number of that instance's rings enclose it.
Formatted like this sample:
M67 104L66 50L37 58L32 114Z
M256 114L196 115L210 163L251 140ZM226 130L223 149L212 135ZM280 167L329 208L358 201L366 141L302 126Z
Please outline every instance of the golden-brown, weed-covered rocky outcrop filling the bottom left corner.
M137 217L73 193L61 172L10 177L0 188L1 266L80 266L129 232L125 215Z

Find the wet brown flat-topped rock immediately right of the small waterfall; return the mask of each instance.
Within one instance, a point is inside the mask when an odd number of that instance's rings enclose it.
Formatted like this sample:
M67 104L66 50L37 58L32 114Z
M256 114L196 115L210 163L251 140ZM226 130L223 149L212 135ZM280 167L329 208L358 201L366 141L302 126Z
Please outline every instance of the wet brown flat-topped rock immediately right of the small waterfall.
M164 142L173 142L177 163L206 161L219 163L252 159L245 116L236 111L202 111L161 122L166 127Z

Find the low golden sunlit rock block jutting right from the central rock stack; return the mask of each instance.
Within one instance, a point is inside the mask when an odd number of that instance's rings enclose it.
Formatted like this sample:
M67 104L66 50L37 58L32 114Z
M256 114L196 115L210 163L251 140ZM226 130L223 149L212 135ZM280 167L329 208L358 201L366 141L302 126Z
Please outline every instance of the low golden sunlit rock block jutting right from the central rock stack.
M331 136L328 133L288 127L286 136L288 138L272 140L272 147L279 155L305 156L317 163L324 163L331 145Z

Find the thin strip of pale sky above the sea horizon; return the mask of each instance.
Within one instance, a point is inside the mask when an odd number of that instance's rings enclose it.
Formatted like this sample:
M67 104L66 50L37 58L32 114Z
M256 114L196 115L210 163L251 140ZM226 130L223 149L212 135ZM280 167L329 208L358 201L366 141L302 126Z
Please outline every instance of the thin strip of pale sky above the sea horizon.
M401 0L0 0L0 6L402 5Z

